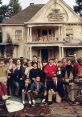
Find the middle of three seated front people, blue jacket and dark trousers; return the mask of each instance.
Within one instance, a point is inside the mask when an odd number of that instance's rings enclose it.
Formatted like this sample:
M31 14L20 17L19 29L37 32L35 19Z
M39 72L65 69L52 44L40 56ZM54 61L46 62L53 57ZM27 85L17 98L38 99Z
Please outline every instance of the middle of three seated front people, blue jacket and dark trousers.
M40 81L40 77L36 76L35 82L31 85L31 98L33 105L36 104L36 99L41 99L42 103L45 103L46 93L45 93L45 86Z

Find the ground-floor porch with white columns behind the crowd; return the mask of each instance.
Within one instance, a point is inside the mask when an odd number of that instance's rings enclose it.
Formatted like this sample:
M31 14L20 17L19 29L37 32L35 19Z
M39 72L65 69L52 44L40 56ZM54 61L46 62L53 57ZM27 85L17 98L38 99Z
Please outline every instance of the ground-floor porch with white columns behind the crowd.
M82 47L64 46L61 44L30 44L29 46L30 60L32 60L33 55L47 61L49 58L61 60L64 57L73 58L75 53L78 58L82 57Z

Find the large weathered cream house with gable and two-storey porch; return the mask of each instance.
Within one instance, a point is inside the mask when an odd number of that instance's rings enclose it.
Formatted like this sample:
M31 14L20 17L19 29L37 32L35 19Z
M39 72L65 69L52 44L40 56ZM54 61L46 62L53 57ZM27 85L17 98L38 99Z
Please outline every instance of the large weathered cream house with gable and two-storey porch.
M1 55L7 56L8 38L14 46L13 57L42 60L82 56L82 18L63 0L49 0L47 4L31 3L20 13L2 24Z

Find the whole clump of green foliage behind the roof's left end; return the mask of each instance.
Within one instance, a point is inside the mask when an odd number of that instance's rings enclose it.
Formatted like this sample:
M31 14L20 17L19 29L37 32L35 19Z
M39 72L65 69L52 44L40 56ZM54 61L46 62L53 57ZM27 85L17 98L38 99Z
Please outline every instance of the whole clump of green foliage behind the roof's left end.
M21 11L21 6L19 0L10 0L8 5L2 5L2 0L0 0L0 23L6 17L11 17Z

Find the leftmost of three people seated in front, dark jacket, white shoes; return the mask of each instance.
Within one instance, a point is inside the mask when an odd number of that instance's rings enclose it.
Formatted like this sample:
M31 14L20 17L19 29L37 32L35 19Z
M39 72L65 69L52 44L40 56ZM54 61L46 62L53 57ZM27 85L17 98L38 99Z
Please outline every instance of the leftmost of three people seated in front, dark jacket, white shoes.
M28 99L28 104L31 105L31 97L30 97L30 88L31 88L31 81L29 78L26 78L24 88L22 89L22 103L25 104Z

